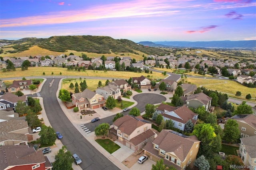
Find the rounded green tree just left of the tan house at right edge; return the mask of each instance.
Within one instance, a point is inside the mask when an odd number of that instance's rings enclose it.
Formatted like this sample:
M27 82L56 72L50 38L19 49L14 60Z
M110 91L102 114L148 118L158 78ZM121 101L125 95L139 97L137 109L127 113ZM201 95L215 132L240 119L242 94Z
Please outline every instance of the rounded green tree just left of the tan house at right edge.
M234 119L228 119L224 125L224 139L228 142L236 142L240 137L238 123Z

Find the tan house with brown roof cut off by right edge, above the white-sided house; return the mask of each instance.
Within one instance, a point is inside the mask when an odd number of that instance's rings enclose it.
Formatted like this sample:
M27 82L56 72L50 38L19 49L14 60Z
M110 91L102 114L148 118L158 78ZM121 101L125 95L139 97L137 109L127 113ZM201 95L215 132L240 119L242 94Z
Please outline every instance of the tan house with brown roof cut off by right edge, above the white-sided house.
M256 136L256 115L234 115L230 119L236 120L240 135L244 137Z

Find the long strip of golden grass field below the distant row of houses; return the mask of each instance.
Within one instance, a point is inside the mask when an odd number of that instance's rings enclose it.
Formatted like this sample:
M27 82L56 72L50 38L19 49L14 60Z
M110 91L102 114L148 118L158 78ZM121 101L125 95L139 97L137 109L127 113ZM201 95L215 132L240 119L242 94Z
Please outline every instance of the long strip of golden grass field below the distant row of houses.
M135 73L135 72L127 72L127 71L96 71L96 70L86 70L86 71L75 71L70 70L68 71L66 68L61 67L29 67L28 70L21 71L21 68L16 69L16 71L7 71L2 72L0 71L0 79L6 77L27 77L27 76L56 76L62 73L62 76L96 76L96 77L114 77L114 78L121 78L121 79L129 79L130 77L140 77L144 75L149 79L163 79L164 75L161 73ZM53 72L53 74L52 74Z

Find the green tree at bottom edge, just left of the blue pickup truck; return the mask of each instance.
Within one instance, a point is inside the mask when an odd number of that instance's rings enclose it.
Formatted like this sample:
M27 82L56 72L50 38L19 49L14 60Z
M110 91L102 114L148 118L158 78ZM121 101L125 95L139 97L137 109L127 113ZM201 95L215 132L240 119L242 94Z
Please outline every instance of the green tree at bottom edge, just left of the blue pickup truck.
M74 158L67 150L66 146L62 146L59 152L55 155L55 161L52 163L54 170L71 170Z

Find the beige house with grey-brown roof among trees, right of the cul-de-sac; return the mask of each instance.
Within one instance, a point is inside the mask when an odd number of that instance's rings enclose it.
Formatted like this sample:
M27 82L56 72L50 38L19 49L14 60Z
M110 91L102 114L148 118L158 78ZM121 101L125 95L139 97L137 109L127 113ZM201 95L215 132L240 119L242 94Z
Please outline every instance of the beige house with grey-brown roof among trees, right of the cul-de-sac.
M204 93L197 93L194 95L190 95L186 99L187 107L198 108L203 106L205 108L205 111L209 111L211 102L212 102L212 97L208 97Z

